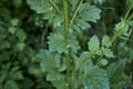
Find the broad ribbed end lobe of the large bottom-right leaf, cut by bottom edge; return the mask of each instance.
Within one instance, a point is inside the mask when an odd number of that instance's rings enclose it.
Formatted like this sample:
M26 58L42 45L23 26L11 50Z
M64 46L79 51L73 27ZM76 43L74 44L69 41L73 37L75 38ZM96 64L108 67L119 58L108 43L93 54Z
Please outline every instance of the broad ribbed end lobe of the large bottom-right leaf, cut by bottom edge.
M84 89L110 89L106 72L96 66L89 66L81 80Z

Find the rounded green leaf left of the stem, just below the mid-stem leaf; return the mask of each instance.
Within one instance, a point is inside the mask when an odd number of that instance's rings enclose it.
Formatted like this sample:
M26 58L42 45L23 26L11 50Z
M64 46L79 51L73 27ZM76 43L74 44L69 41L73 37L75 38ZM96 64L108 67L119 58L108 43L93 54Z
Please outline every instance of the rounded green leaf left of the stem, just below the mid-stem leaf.
M51 53L48 50L40 50L38 56L41 59L41 68L43 71L52 72L60 67L60 56L57 53Z

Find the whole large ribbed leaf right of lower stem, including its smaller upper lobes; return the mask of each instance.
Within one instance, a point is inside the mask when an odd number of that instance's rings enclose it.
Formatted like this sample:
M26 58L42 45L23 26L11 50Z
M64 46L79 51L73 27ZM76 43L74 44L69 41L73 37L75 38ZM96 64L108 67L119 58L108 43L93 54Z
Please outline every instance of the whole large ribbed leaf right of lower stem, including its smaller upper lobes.
M75 81L73 82L80 81L84 87L83 89L110 89L105 70L93 65L89 52L83 52L81 57L75 60L75 69L79 80L74 78Z

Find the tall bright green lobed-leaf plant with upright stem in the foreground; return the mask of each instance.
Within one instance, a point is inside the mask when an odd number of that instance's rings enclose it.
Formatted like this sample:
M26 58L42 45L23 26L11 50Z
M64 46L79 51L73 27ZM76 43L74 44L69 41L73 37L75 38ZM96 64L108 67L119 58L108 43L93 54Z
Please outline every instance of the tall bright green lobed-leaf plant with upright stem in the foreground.
M101 0L102 1L102 0ZM89 2L91 0L27 0L30 8L48 20L52 32L48 36L48 49L41 49L37 57L41 69L45 72L47 81L57 89L122 89L126 81L122 79L126 60L114 62L113 44L117 37L129 40L132 33L132 18L130 6L121 22L115 24L112 37L90 37L88 49L82 50L78 38L83 30L90 29L90 22L100 19L101 10ZM130 2L130 3L129 3ZM42 36L42 41L44 37ZM42 42L43 46L43 42ZM130 81L130 77L127 77ZM120 83L116 85L117 81ZM130 81L131 82L131 81ZM130 83L129 82L129 83Z

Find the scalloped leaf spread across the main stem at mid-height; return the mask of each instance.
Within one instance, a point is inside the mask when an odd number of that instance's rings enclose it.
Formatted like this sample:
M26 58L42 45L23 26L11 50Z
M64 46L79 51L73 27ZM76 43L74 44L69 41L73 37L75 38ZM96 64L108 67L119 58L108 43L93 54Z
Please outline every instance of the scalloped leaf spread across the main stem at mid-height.
M64 36L61 33L51 33L49 37L49 50L50 51L58 51L59 53L68 53L69 49L76 52L79 47L79 42L71 38L68 41L64 39Z

